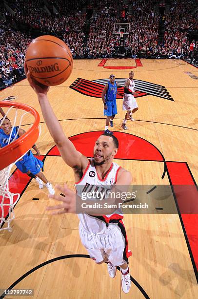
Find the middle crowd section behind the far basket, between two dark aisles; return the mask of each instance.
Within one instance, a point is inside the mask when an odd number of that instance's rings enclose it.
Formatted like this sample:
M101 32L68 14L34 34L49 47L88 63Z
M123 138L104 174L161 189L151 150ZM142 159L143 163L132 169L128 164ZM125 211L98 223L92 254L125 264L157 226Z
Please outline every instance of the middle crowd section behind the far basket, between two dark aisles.
M158 44L158 17L153 12L154 0L133 1L133 14L126 13L121 20L118 10L126 8L123 1L95 1L96 14L91 18L88 49L89 58L111 58L119 48L118 34L114 34L114 23L130 23L130 34L125 38L128 57L137 57Z

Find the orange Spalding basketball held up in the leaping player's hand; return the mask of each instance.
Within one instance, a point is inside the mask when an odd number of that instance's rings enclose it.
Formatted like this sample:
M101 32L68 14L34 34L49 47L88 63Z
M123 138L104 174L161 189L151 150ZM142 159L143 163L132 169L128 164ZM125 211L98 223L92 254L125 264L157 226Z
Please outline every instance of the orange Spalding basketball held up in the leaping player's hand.
M70 49L63 41L51 35L33 40L27 48L25 59L31 76L43 85L62 84L73 69Z

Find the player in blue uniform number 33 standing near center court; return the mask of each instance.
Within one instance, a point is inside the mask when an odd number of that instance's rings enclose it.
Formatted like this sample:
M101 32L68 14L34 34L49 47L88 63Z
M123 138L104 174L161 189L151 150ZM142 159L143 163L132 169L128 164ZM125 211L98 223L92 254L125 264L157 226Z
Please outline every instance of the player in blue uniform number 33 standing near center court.
M110 126L113 127L113 119L116 116L117 112L117 105L116 105L116 94L118 93L120 96L123 96L121 93L118 92L117 83L115 81L115 76L110 75L110 82L108 82L102 91L102 102L104 104L104 115L107 116L106 118L106 126L105 126L105 133L113 134L109 130L109 122Z

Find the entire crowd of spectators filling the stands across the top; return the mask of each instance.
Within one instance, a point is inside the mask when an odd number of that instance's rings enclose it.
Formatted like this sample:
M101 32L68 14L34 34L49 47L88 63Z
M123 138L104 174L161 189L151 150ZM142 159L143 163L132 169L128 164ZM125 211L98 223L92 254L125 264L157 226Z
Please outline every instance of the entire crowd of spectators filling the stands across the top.
M120 36L114 33L114 23L129 23L130 32L124 36L126 57L197 60L198 42L193 43L192 50L192 41L188 37L189 30L198 30L198 12L192 15L195 10L192 0L172 2L170 11L163 16L165 33L161 44L158 43L158 31L162 19L155 9L155 0L128 1L132 5L131 14L129 5L123 0L92 0L89 34L85 33L87 20L82 12L85 2L10 0L9 6L15 15L0 3L1 15L6 19L0 23L0 80L11 85L24 77L24 57L32 37L17 30L19 24L43 34L59 36L70 47L74 59L115 57ZM121 18L120 10L123 9L126 15Z

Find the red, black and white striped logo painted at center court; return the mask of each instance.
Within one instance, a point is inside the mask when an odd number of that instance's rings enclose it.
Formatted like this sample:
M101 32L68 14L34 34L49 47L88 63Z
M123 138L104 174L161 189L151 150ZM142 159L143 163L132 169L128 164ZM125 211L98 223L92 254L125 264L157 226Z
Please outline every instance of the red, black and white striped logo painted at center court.
M118 91L120 93L124 92L125 81L125 78L116 78L116 82L118 84ZM109 78L93 81L78 78L69 87L86 96L101 98L102 90L107 82L109 82ZM136 96L137 98L152 95L162 99L174 101L165 86L137 79L135 79L134 82L135 91L138 92L138 96ZM121 98L121 96L117 95L117 99Z

